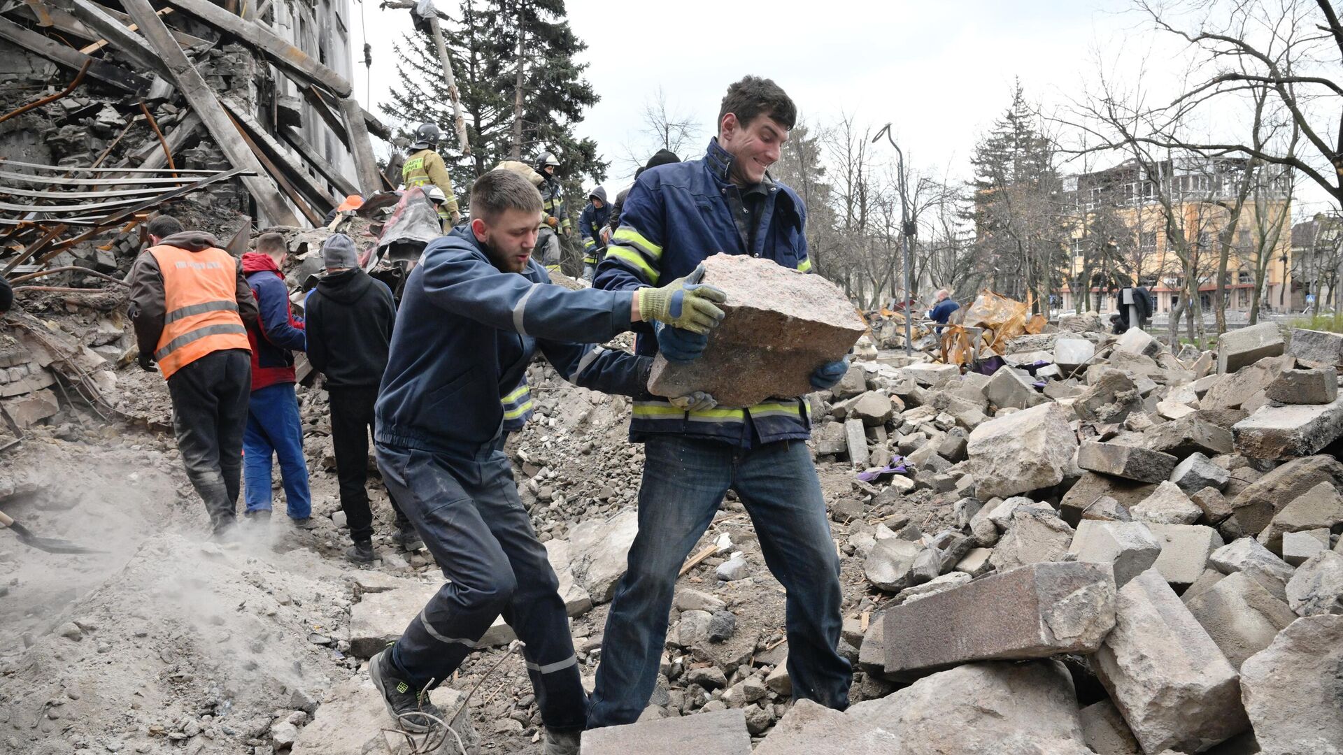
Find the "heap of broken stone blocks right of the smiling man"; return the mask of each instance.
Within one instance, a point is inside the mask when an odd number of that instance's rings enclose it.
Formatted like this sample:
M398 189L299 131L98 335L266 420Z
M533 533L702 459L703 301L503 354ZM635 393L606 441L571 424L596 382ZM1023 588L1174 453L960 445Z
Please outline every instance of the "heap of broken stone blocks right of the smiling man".
M885 355L813 396L818 458L876 480L846 519L935 492L955 527L849 528L862 701L798 701L755 752L1343 752L1343 336L1021 341L991 376ZM748 716L583 751L745 754Z

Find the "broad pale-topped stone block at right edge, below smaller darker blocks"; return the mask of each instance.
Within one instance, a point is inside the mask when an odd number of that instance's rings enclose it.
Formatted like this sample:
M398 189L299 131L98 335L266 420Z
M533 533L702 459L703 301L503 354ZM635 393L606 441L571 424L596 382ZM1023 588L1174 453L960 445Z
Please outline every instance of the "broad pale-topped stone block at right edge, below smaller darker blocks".
M1236 423L1236 450L1261 459L1311 455L1343 435L1343 399L1327 404L1262 406Z

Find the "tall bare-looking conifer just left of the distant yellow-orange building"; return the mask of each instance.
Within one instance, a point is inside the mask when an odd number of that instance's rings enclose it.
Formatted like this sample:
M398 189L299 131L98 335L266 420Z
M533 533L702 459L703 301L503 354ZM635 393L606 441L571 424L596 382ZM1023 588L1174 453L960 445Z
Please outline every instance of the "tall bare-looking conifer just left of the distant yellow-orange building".
M1035 309L1044 312L1068 257L1056 202L1054 146L1038 129L1021 82L970 163L975 243L992 266L992 285L1015 298L1033 293Z

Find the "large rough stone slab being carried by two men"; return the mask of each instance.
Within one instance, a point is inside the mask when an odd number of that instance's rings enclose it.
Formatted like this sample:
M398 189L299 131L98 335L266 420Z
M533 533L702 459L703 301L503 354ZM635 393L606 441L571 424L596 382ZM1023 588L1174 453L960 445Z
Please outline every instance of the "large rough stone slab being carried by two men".
M810 394L811 372L843 357L868 329L843 292L821 275L744 254L714 254L704 267L704 282L728 294L727 317L694 361L658 355L649 376L657 395L708 391L720 406L740 407Z

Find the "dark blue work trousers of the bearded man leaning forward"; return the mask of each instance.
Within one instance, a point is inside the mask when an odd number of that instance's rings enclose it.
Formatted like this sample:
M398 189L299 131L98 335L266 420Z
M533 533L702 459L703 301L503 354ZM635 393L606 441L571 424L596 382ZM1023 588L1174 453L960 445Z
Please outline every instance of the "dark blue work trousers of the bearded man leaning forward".
M447 681L502 615L526 645L522 657L541 721L582 731L587 695L560 582L517 496L508 457L493 447L477 458L373 447L387 492L449 579L392 645L396 677L416 689Z

